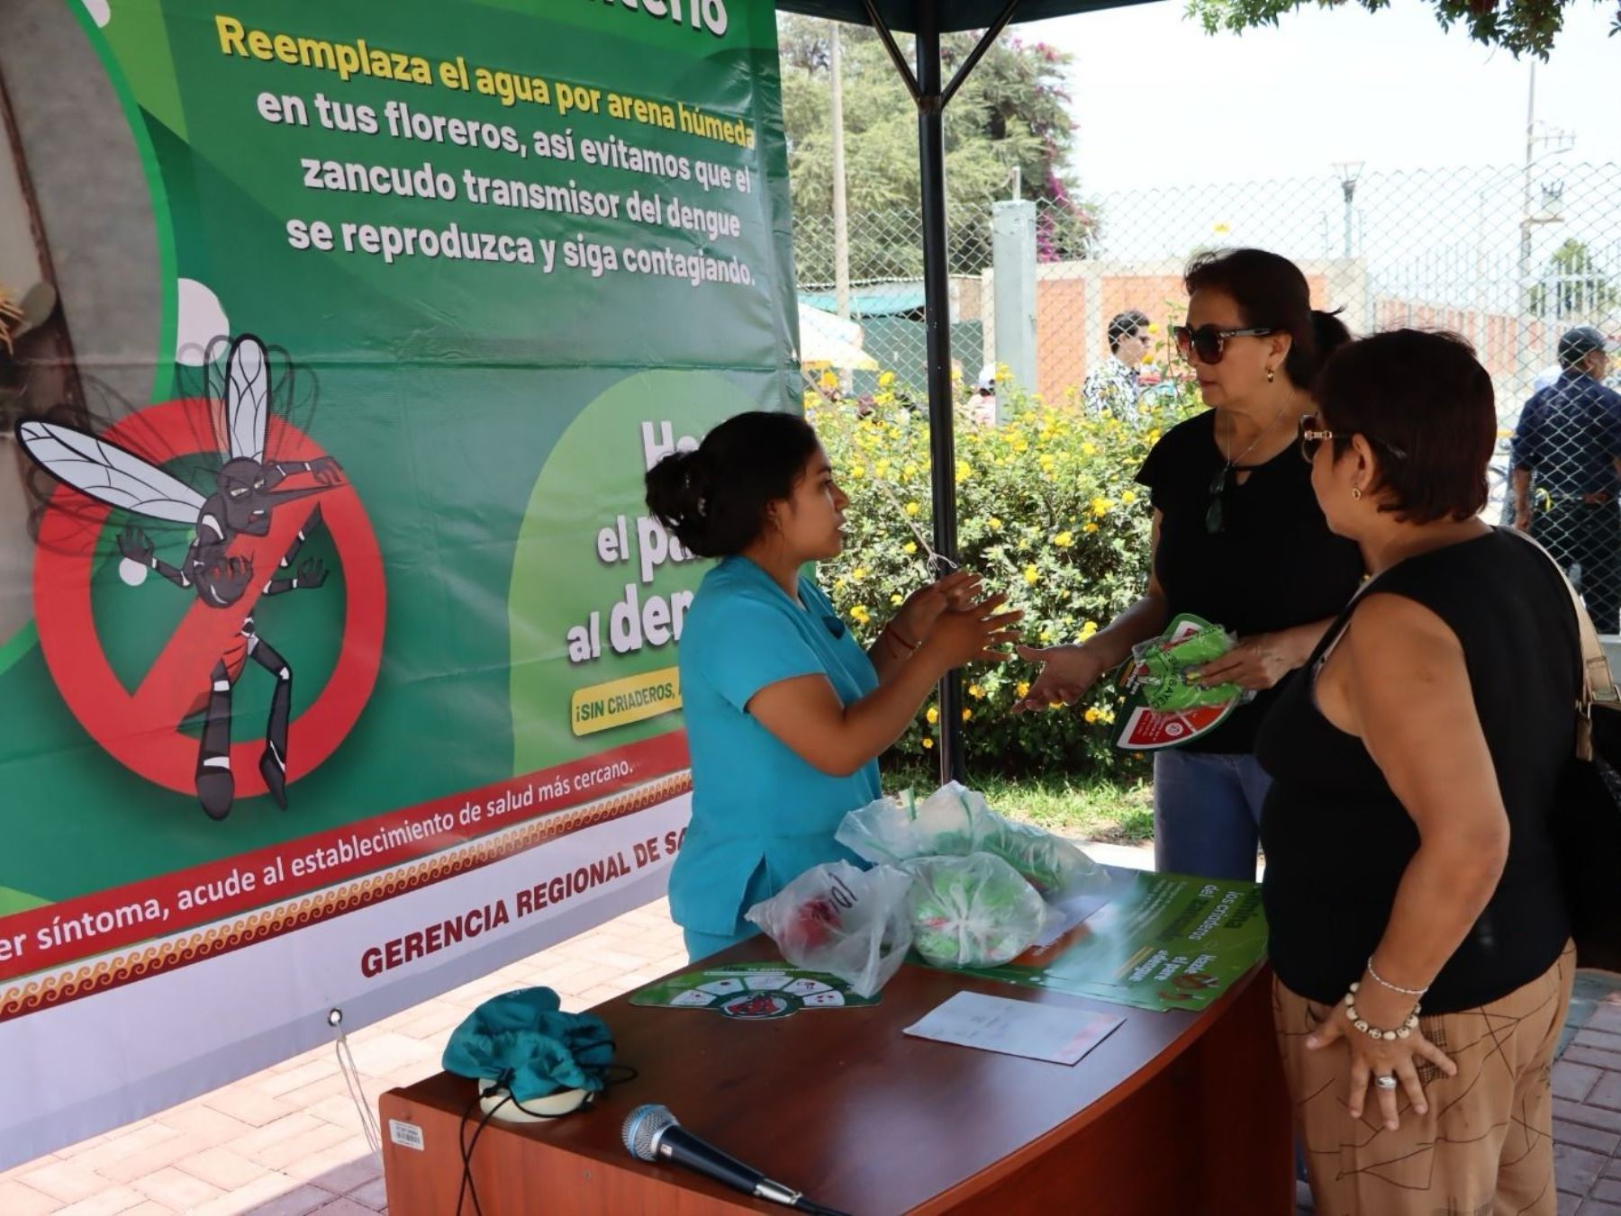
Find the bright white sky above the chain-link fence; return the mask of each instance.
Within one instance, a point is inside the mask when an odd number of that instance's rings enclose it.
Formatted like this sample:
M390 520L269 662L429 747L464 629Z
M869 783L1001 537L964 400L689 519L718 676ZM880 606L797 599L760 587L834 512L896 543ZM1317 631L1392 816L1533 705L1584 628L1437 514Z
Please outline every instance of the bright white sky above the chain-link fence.
M1576 134L1561 159L1621 162L1615 0L1572 0L1537 118ZM1276 29L1206 36L1178 0L1015 31L1075 53L1070 92L1084 194L1190 181L1514 165L1525 157L1529 60L1441 31L1423 0L1381 13L1303 8Z

